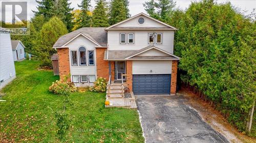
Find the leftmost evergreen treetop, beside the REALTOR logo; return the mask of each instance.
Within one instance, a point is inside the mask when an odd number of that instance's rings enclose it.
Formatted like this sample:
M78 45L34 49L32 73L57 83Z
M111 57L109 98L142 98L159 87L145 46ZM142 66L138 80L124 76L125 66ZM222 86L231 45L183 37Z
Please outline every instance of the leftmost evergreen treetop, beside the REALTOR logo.
M36 3L38 3L38 7L36 7L38 11L33 11L35 13L35 16L44 15L46 20L49 20L54 15L54 0L36 0Z

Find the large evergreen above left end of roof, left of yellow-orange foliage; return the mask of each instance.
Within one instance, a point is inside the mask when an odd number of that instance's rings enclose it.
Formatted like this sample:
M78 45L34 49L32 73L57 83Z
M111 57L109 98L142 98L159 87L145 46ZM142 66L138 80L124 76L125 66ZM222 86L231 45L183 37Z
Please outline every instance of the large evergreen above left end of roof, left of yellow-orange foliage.
M67 29L71 31L73 28L71 11L73 11L74 8L70 8L71 3L68 3L69 0L55 1L55 16L59 17L62 20L62 22L67 26Z

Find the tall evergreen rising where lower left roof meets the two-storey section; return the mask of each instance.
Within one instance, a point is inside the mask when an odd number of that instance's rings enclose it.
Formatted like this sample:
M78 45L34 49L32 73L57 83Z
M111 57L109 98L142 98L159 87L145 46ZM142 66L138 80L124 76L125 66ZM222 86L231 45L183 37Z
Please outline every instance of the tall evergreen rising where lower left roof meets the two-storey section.
M106 8L105 0L98 0L93 11L93 27L108 27L108 8Z

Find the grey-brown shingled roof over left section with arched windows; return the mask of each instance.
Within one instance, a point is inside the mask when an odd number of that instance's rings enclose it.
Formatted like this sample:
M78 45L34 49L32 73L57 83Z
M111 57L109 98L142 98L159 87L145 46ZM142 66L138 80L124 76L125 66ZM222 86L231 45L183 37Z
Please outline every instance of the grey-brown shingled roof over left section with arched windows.
M105 28L80 28L66 35L59 37L53 47L61 47L72 41L74 38L82 35L99 46L106 46L108 43L108 35Z

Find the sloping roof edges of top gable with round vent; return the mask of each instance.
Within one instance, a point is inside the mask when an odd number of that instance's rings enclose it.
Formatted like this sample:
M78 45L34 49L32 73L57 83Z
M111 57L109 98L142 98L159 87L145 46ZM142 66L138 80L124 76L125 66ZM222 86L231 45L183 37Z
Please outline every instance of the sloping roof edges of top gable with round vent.
M155 21L161 23L162 25L167 26L168 29L170 29L170 30L178 30L177 28L175 28L175 27L173 27L173 26L170 26L170 25L167 25L166 23L164 23L164 22L162 22L162 21L160 21L160 20L157 20L157 19L155 19L155 18L153 18L153 17L151 17L151 16L148 16L148 15L146 15L146 14L143 13L143 12L141 12L141 13L139 13L139 14L137 14L137 15L134 15L134 16L128 18L128 19L125 19L125 20L123 20L123 21L121 21L121 22L118 22L118 23L116 23L115 25L112 25L112 26L106 28L105 30L112 30L112 29L114 30L114 27L120 25L121 23L124 23L124 22L126 22L126 21L129 21L129 20L131 20L131 19L133 19L133 18L135 18L135 17L141 16L141 15L143 15L143 16L145 16L145 17L147 17L147 18L150 18L150 19L152 19L152 20L155 20ZM120 27L119 27L119 29L120 29ZM152 29L152 28L151 28L151 29Z

